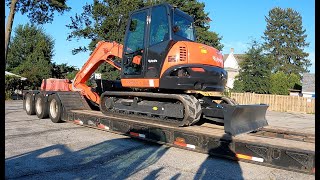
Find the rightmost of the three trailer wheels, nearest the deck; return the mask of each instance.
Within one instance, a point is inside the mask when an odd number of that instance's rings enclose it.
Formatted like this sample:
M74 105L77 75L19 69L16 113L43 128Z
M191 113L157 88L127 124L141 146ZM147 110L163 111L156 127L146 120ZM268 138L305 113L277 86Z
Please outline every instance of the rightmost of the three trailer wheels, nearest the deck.
M55 94L49 96L49 116L52 122L60 123L61 120L61 101L59 97Z

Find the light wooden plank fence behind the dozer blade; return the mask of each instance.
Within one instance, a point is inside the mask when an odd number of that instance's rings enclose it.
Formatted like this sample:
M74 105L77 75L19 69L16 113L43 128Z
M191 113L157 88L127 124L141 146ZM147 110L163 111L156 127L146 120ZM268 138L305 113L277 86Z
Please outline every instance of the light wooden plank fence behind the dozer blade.
M270 111L314 113L315 98L255 93L231 93L239 104L268 104Z

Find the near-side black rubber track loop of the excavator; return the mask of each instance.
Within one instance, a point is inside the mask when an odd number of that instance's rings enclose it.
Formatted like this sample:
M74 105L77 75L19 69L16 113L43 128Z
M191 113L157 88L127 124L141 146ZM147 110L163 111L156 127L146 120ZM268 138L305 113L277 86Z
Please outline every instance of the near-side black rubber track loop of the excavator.
M157 98L157 99L174 99L177 101L180 101L184 105L184 118L181 121L170 121L168 120L170 124L174 126L190 126L192 124L195 124L200 120L201 117L201 105L200 102L192 95L186 95L186 94L162 94L162 93L149 93L149 92L115 92L115 91L106 91L103 94L101 94L100 98L100 111L104 115L110 115L110 111L107 111L107 108L105 106L105 100L107 97L123 97L126 99L128 96L131 97L140 97L140 98ZM127 114L124 114L127 116ZM143 118L146 118L143 116ZM147 118L147 119L150 119ZM152 120L159 121L161 123L161 120L159 118L152 118ZM163 121L163 120L162 120Z

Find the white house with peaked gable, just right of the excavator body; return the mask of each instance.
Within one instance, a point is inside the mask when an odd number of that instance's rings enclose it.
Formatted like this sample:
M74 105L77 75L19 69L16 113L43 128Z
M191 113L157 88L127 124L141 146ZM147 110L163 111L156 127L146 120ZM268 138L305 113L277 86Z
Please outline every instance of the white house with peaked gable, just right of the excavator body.
M234 54L234 49L230 49L230 54L224 54L224 69L228 72L228 81L226 87L233 88L235 77L239 74L239 62L243 59L243 54Z

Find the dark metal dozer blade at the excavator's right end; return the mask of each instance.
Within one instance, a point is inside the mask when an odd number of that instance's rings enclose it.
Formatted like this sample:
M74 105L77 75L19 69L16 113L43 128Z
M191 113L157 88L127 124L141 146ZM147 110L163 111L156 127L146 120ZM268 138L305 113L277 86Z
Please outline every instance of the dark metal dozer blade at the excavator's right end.
M223 105L224 131L235 136L267 126L268 107L266 104Z

